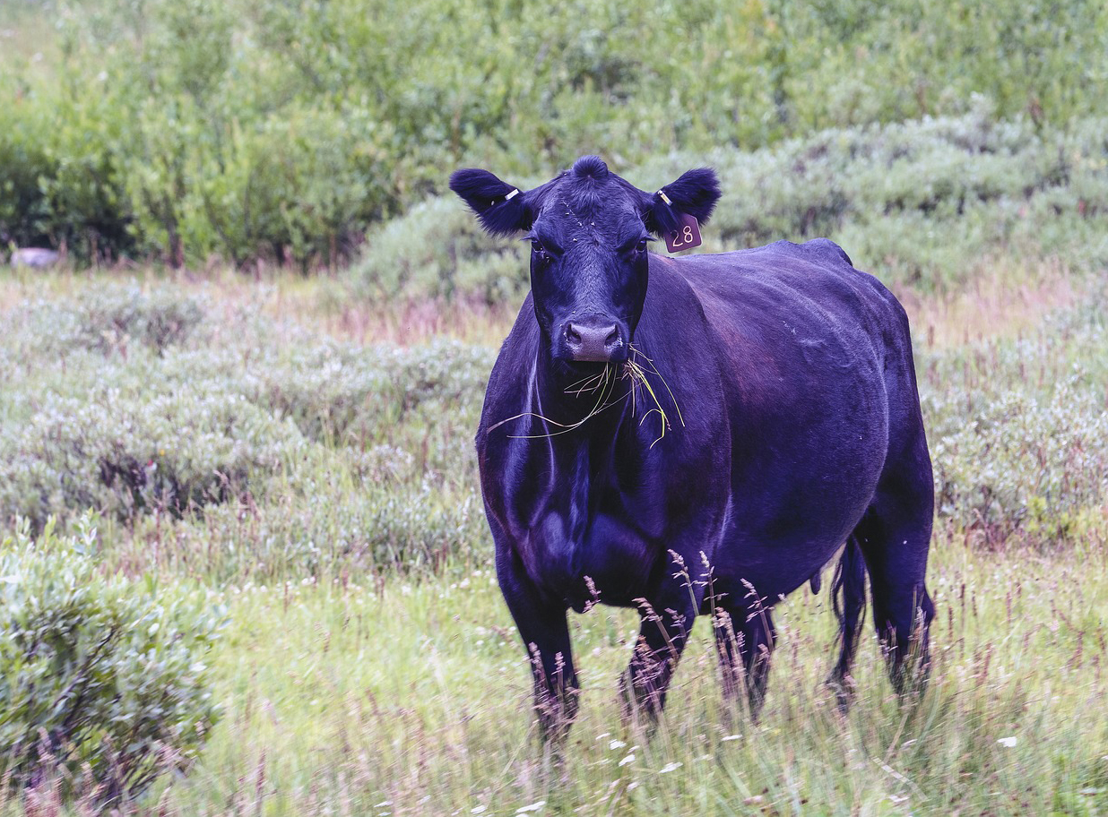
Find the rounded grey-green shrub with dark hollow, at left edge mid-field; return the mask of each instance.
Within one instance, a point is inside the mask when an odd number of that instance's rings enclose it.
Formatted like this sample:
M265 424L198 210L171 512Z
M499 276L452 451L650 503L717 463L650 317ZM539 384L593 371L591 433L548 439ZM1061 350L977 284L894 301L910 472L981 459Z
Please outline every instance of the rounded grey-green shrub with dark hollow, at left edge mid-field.
M198 369L192 372L205 373ZM181 516L239 497L255 479L264 485L301 443L295 427L211 371L179 391L164 373L151 383L137 366L102 371L107 378L90 392L44 395L25 425L0 434L6 514L37 526L89 507L121 519L155 510ZM153 389L144 393L143 384Z

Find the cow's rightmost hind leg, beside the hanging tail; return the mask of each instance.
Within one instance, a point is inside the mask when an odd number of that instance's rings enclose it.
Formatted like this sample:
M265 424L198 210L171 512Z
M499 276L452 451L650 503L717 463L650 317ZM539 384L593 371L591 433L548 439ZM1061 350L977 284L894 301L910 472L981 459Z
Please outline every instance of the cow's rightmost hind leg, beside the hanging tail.
M854 528L870 571L873 623L899 694L922 690L930 671L935 607L924 573L934 499L930 461L924 465L888 468L873 503Z

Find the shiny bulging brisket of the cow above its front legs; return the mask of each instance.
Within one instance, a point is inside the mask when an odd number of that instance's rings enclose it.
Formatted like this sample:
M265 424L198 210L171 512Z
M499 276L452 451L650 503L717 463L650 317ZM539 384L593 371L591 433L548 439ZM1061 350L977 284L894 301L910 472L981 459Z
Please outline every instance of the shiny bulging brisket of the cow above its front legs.
M535 583L576 610L643 597L658 547L630 520L597 513L574 525L568 517L550 510L532 529L524 559Z

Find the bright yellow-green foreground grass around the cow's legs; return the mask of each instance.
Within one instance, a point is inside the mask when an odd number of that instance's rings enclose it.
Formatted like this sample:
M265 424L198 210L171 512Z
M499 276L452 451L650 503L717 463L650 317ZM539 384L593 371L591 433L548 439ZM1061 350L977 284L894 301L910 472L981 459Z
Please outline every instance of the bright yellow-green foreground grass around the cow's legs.
M236 623L217 660L227 717L166 803L267 815L500 815L540 800L543 814L589 815L1099 814L1105 545L1101 531L1066 554L987 554L941 531L925 700L897 704L870 638L845 720L820 684L833 659L825 594L780 608L757 725L721 712L700 622L653 738L620 723L616 700L637 617L572 616L584 693L564 765L537 748L530 673L488 568L383 591L243 588L228 593Z

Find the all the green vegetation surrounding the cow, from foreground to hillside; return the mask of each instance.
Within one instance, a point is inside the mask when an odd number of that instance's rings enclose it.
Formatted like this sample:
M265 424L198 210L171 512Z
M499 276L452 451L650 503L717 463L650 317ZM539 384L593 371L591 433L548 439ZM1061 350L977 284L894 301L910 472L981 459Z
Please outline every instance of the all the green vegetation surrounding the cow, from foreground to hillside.
M0 242L69 252L0 267L0 815L1108 811L1106 38L1077 0L0 6ZM586 152L711 165L705 250L827 235L907 308L922 701L868 637L839 716L806 589L759 723L700 622L649 735L597 607L540 746L472 447L526 259L441 193Z

